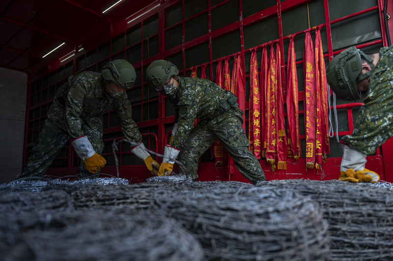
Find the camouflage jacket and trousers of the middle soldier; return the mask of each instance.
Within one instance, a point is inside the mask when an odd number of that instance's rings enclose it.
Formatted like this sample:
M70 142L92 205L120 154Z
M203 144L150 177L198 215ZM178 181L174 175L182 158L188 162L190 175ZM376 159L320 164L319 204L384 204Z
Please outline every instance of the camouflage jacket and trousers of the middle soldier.
M178 128L171 146L182 149L178 160L185 169L180 174L197 179L199 157L217 139L235 161L240 173L250 182L265 180L265 175L256 157L248 149L249 140L242 128L243 112L232 108L212 120L200 121L194 128L196 118L214 112L225 101L227 93L207 79L181 78L174 99L169 101L176 108Z

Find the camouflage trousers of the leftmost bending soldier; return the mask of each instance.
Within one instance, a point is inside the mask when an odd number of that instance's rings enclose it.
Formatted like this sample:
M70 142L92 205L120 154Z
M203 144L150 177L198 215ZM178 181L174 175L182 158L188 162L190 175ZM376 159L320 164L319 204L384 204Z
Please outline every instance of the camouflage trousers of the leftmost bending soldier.
M101 155L104 148L102 126L89 126L83 119L81 119L81 122L82 130L89 139L94 151ZM49 165L69 139L70 137L66 130L59 128L51 119L47 118L20 178L43 177ZM72 145L70 144L70 146ZM81 160L78 173L81 179L94 179L98 178L100 171L96 174L87 171Z

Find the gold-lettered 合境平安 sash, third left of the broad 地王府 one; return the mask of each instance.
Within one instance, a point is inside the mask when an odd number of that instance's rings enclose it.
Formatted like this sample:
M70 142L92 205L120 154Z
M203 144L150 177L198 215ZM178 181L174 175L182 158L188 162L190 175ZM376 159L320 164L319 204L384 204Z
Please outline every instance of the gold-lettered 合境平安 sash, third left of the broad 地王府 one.
M267 79L266 90L266 161L270 163L272 170L276 168L275 154L276 154L276 121L277 121L277 108L276 108L276 58L274 54L273 43L270 44L270 57L269 57L269 73Z

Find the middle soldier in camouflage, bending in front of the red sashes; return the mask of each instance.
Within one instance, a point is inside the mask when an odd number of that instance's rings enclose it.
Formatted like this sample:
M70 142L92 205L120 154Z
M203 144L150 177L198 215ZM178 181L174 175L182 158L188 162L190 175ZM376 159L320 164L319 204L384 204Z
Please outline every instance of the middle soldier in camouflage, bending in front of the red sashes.
M220 139L246 179L254 184L265 181L261 165L248 149L243 111L238 108L236 96L210 80L182 78L178 73L176 66L165 60L152 62L146 70L149 84L167 96L176 111L173 139L165 146L158 175L170 173L179 156L184 164L180 174L196 180L198 158ZM193 128L196 118L200 121Z

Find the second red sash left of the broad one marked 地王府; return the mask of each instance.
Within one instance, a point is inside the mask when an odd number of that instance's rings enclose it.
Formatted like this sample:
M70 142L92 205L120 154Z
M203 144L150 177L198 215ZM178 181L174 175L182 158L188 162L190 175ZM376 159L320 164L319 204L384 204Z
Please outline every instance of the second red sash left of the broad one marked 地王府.
M276 102L277 102L277 121L276 121L276 140L278 154L278 169L286 169L286 134L285 134L285 117L284 117L284 101L282 98L282 82L281 82L281 52L280 44L276 44Z

